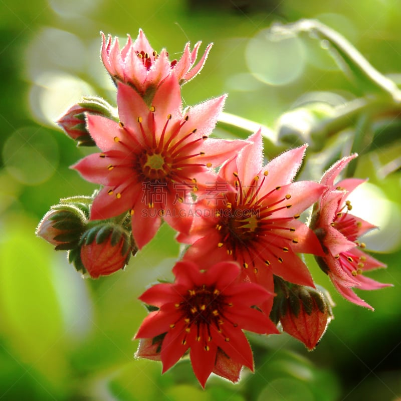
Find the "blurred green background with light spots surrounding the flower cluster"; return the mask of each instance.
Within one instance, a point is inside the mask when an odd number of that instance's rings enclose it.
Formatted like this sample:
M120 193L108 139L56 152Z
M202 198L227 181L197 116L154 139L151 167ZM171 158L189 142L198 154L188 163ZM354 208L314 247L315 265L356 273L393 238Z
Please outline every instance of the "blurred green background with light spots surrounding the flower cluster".
M335 319L313 352L287 334L250 336L256 371L244 371L236 385L212 377L204 391L187 360L161 376L158 362L133 357L131 338L146 315L137 297L157 278L171 278L178 255L171 229L164 225L124 272L98 280L82 279L63 252L34 234L60 198L95 188L69 169L92 150L77 148L54 121L82 95L115 104L99 57L100 31L124 43L127 33L135 38L142 28L170 59L180 57L187 41L214 42L202 73L183 87L184 102L229 93L226 112L272 128L271 157L285 148L278 132L314 123L308 113L283 114L309 101L330 108L364 95L324 43L308 36L278 41L266 31L300 18L336 29L401 82L398 0L0 0L1 400L401 399L398 114L367 126L373 139L355 173L369 183L353 200L362 217L381 227L365 242L388 269L370 277L394 287L359 293L372 313L341 299L307 258L316 282L332 294ZM216 134L247 135L240 131L219 125ZM347 143L349 150L353 135L350 126L312 143L303 174L318 179L327 167L321 160L339 157ZM296 141L297 135L287 136L287 146Z

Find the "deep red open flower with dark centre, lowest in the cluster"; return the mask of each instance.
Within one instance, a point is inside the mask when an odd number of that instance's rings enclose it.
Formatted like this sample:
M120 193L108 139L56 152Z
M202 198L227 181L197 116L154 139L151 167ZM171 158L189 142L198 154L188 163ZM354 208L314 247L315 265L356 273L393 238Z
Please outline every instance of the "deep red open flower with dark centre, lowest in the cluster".
M267 315L251 307L273 294L241 282L240 267L232 262L207 271L192 262L178 262L173 273L174 283L154 285L139 297L159 309L144 319L135 335L154 338L153 345L149 340L142 344L138 356L154 358L159 351L164 373L189 349L193 371L203 387L212 371L233 381L238 380L238 366L253 371L252 350L242 330L278 333Z

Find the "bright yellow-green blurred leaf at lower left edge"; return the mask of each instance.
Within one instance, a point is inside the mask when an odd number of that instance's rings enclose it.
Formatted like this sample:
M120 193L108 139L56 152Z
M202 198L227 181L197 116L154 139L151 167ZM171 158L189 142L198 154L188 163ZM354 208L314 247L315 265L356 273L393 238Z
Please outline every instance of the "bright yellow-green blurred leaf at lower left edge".
M49 248L19 219L0 242L0 309L6 341L19 359L59 381L66 373L62 311Z

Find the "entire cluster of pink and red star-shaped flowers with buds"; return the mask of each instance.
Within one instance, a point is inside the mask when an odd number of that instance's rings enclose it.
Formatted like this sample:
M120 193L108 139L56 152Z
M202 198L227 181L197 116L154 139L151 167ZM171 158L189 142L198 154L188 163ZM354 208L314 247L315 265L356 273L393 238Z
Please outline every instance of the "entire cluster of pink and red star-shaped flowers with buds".
M184 110L181 101L181 86L211 49L195 63L199 46L190 50L187 43L180 60L169 61L142 31L121 50L117 39L103 35L101 56L116 84L117 110L85 98L58 121L78 144L100 149L73 168L101 189L62 199L37 234L97 278L124 268L162 221L171 226L187 250L172 269L173 283L140 296L149 314L135 335L137 356L161 360L164 372L189 350L204 387L212 372L236 382L243 366L254 369L243 330L279 333L280 322L315 347L331 306L297 254L315 255L355 304L371 308L354 287L385 284L363 275L384 265L358 241L373 226L349 213L347 196L363 180L335 182L356 155L335 163L319 183L294 182L306 145L264 165L260 130L247 140L210 138L225 96ZM308 227L299 218L312 205Z

